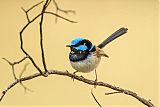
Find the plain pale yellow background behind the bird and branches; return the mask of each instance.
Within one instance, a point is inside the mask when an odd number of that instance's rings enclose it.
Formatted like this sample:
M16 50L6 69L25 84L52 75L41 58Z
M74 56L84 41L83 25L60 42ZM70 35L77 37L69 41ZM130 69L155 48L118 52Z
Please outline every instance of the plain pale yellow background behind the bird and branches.
M21 59L24 54L19 48L19 32L26 24L21 6L28 9L38 0L0 1L0 57L10 61ZM151 99L158 105L158 1L157 0L57 0L63 9L73 9L76 15L63 14L64 17L78 21L73 24L45 15L44 47L48 69L73 72L68 61L69 49L65 47L74 37L84 37L99 44L120 27L127 27L128 33L110 43L104 51L110 58L102 59L97 68L98 80ZM52 7L53 5L51 5ZM37 14L37 9L30 13ZM53 10L54 8L50 8ZM39 20L24 32L25 49L42 68L39 49ZM18 75L29 60L16 66ZM37 72L29 63L24 75ZM94 72L79 73L86 78L95 79ZM0 60L0 90L13 81L11 67ZM134 98L123 95L109 95L108 88L89 86L68 77L49 76L36 78L24 84L34 92L24 94L22 86L16 85L4 97L1 105L54 105L54 106L97 106L90 90L93 89L99 102L104 106L142 106Z

